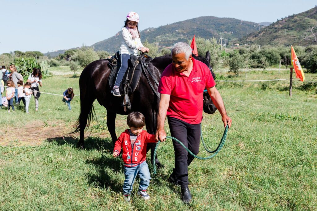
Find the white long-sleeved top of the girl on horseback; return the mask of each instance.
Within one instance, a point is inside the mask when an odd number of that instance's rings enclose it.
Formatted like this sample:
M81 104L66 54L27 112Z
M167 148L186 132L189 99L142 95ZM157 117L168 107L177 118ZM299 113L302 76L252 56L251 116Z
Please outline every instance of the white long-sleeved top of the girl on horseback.
M138 49L140 47L144 47L141 43L140 37L136 38L135 40L132 39L131 33L128 31L126 27L123 27L121 30L122 34L122 44L120 46L119 54L126 53L130 55L138 55Z

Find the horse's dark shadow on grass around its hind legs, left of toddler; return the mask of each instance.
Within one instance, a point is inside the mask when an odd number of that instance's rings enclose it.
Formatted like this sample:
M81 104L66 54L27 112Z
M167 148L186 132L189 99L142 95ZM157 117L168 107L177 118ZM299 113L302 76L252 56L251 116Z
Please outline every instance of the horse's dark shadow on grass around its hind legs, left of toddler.
M68 144L77 148L78 139L73 136L62 136L47 139L49 142L55 142L58 145ZM86 150L113 150L113 142L111 139L101 139L100 137L88 137L85 139L85 149ZM79 150L79 148L78 148Z

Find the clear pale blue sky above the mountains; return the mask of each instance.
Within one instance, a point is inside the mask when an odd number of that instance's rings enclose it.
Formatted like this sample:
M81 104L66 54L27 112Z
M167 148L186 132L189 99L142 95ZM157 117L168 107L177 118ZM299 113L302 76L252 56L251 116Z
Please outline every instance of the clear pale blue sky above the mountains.
M316 4L316 0L0 0L0 53L90 46L120 31L129 11L139 13L142 30L199 16L275 22Z

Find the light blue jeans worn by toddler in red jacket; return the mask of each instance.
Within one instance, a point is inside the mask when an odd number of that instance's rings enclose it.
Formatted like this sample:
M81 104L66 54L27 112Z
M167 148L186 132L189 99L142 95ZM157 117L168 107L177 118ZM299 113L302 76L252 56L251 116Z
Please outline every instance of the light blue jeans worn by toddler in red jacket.
M131 194L132 186L137 175L140 177L139 190L146 190L151 179L146 161L134 167L124 167L124 176L126 179L123 182L123 194Z

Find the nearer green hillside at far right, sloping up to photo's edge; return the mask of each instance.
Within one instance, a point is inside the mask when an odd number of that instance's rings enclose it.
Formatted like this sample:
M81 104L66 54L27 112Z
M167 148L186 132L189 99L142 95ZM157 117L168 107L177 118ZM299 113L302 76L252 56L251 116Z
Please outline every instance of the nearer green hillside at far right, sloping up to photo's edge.
M293 14L253 32L241 39L241 43L255 43L258 45L301 45L317 44L312 32L317 35L317 7L299 14ZM310 36L310 37L307 37Z

